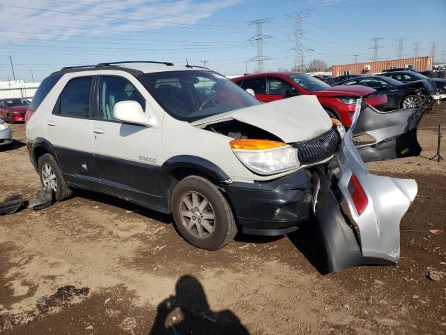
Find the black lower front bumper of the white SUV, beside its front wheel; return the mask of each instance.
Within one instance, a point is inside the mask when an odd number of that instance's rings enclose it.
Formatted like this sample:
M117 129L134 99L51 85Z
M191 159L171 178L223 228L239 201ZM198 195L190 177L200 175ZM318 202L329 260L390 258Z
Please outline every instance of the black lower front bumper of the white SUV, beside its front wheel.
M224 184L243 234L279 236L307 221L312 203L311 174L302 169L273 181Z

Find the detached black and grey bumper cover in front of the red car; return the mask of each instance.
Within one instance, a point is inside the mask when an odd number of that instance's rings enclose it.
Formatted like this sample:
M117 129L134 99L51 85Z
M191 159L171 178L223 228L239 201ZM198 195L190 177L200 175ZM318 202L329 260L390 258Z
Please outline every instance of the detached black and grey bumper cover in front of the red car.
M429 105L381 112L362 101L353 143L364 162L419 156L417 126ZM353 126L352 126L353 128Z

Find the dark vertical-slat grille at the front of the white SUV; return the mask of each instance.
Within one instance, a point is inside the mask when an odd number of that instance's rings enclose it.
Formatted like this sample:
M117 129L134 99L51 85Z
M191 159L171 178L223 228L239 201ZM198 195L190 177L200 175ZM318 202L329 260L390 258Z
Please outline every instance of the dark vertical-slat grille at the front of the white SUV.
M318 163L332 156L336 152L340 140L339 134L332 128L327 133L311 140L291 143L291 146L298 149L300 164L308 165Z

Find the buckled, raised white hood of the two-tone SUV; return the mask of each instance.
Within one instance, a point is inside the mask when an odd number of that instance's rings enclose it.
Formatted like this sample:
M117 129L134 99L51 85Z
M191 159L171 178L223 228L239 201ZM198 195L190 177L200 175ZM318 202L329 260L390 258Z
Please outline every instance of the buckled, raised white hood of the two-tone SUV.
M316 96L295 96L262 103L206 117L191 125L204 128L231 119L261 128L287 143L309 140L332 128L332 121Z

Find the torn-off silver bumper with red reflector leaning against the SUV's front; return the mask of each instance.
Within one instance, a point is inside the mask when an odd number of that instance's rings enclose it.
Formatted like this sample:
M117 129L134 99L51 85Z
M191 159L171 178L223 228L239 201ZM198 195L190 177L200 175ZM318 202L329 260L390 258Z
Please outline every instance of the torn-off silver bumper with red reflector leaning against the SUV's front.
M399 223L417 194L412 179L370 174L353 144L360 116L329 167L313 170L313 210L327 254L328 270L399 260Z

